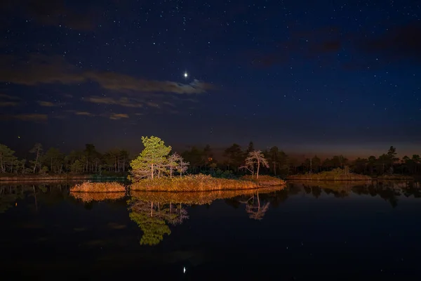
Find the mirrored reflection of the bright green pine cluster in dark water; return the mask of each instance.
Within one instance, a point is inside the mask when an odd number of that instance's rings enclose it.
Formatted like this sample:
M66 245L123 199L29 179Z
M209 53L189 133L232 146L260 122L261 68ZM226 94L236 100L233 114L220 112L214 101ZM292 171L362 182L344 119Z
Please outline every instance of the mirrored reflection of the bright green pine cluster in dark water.
M181 224L189 218L187 210L182 204L173 206L170 204L160 204L154 202L145 202L142 200L131 200L132 221L138 224L143 232L140 238L140 244L156 245L163 240L164 235L170 235L171 230L167 223L173 225Z

